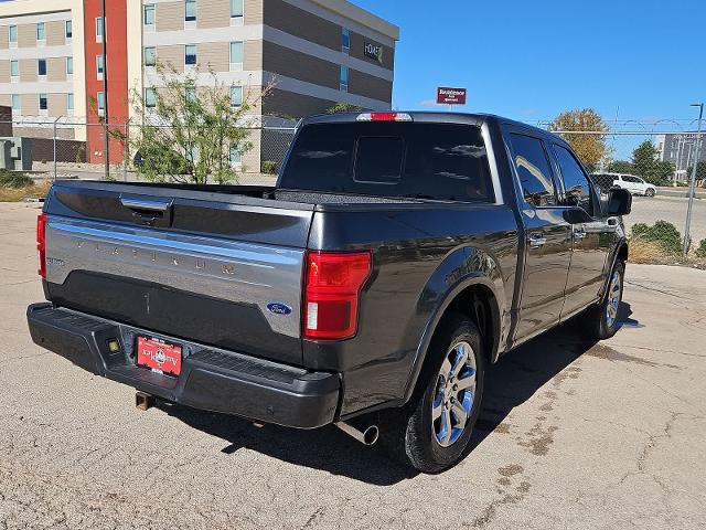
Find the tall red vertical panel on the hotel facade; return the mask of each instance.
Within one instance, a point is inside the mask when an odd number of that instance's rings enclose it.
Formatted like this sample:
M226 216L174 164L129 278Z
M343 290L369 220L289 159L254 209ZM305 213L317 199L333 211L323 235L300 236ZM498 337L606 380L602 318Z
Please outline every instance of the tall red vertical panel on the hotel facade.
M128 102L128 43L127 0L105 0L106 3L106 54L104 75L107 75L107 123L119 124L110 129L125 130L122 124L129 116ZM103 12L103 0L84 0L84 32L86 53L86 108L88 116L88 153L93 163L105 163L105 136L101 117L98 115L99 93L104 93L104 82L98 78L97 59L103 55L103 42L97 38L97 19ZM124 147L115 138L110 139L110 163L120 163Z

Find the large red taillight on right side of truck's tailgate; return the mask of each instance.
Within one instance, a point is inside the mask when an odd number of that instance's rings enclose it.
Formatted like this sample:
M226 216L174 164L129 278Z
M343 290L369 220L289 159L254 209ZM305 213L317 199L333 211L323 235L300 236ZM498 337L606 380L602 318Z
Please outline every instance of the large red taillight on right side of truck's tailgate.
M304 337L343 340L357 331L361 288L371 274L367 252L307 254L304 275Z

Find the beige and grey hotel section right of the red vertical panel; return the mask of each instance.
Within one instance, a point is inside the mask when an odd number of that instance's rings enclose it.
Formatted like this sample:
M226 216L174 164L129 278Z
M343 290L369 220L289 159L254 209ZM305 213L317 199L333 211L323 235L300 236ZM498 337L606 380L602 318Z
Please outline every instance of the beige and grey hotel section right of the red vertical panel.
M399 29L345 0L151 0L141 39L148 105L161 84L154 65L163 64L193 72L197 84L213 83L215 73L233 105L270 87L253 109L264 126L291 126L336 104L392 106ZM282 141L268 131L250 140L248 168Z

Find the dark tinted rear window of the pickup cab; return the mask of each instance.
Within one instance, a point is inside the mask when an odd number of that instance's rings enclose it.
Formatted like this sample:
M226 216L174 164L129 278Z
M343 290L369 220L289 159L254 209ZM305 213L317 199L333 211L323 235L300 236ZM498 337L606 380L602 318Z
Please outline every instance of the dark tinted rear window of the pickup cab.
M439 201L494 201L481 130L470 125L308 125L297 138L279 188Z

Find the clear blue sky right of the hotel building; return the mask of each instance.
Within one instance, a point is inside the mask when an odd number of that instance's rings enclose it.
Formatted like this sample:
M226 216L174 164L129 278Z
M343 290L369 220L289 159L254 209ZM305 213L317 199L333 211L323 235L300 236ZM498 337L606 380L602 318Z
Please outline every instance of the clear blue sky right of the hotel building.
M527 123L618 106L691 119L706 100L706 0L353 1L402 28L397 108L428 108L439 85L468 87L468 112Z

